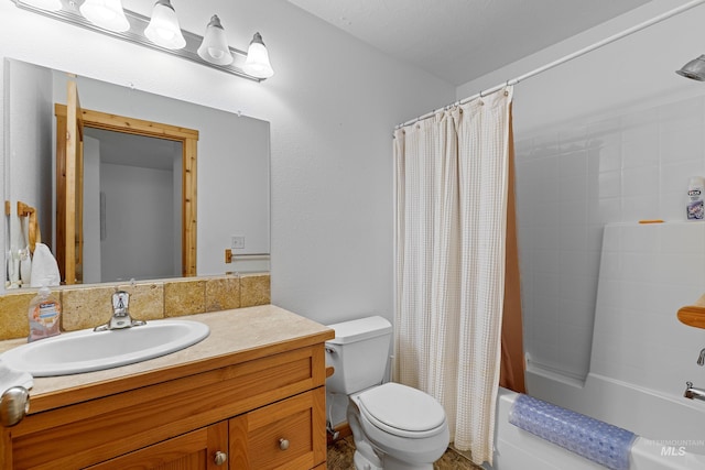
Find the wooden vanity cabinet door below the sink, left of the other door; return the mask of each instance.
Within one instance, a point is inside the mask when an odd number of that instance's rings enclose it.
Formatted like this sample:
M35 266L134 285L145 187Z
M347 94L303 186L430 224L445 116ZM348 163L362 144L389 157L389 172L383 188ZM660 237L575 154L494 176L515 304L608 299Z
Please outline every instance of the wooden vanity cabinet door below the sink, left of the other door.
M126 439L129 439L126 436ZM227 470L228 423L174 437L88 467L89 470Z

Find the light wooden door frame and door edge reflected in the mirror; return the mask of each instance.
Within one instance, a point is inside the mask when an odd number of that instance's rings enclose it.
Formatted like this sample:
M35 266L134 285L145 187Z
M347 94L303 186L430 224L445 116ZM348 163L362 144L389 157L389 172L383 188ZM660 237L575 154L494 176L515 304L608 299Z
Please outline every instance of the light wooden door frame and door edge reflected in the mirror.
M62 282L84 283L84 130L85 128L175 141L182 149L182 276L196 275L196 168L198 131L82 109L76 83L69 80L67 105L56 116L56 260ZM163 230L171 230L164 227Z

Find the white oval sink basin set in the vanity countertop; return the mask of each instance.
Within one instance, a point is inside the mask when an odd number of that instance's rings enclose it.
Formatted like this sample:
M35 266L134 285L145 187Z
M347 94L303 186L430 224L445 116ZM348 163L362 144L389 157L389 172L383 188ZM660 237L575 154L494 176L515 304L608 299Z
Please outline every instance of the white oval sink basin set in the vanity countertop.
M154 359L188 348L208 336L207 325L153 320L118 330L62 334L22 345L0 356L10 368L34 376L100 371Z

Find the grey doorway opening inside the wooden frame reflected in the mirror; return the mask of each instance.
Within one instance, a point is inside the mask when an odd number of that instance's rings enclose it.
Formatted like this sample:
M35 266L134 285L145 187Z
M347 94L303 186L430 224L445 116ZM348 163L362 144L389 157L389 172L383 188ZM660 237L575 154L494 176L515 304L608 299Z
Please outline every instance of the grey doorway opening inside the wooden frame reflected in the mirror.
M182 275L182 147L84 129L84 283Z

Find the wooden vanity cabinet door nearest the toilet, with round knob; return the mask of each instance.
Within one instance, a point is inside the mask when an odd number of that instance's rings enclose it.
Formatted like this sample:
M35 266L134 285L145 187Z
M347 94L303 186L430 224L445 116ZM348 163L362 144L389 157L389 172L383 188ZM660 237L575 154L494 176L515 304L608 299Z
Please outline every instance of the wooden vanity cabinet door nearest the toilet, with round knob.
M230 468L301 470L325 462L325 400L318 387L230 419Z

